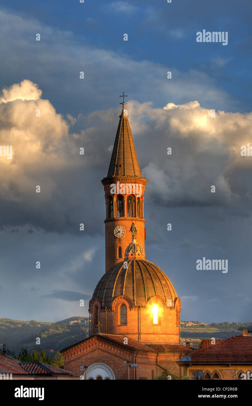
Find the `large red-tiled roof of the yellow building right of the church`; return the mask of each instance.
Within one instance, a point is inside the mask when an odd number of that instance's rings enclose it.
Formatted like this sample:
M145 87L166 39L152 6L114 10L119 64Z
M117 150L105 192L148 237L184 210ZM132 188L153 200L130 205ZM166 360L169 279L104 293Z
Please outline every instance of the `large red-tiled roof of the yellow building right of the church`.
M191 363L252 364L252 337L235 336L190 354Z

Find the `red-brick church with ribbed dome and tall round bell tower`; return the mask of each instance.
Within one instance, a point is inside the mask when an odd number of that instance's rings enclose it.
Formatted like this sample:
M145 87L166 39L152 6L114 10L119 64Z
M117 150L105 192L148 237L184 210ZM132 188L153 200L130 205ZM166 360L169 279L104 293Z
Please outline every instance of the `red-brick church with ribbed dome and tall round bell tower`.
M90 300L90 337L61 351L64 369L88 380L153 380L191 353L180 344L180 299L167 275L145 259L144 193L126 103L105 191L105 274ZM83 370L83 368L82 368Z

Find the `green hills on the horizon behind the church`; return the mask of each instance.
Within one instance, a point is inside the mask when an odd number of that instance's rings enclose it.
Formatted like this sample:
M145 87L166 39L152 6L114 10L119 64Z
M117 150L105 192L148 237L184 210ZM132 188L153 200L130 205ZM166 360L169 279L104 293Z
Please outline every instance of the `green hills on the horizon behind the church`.
M79 323L69 324L70 321L79 320ZM181 324L181 339L190 339L198 347L203 338L229 338L240 335L243 328L252 330L252 323L212 323L186 326ZM41 352L46 350L49 356L57 351L77 343L89 336L88 317L73 316L59 322L37 322L36 320L20 321L0 318L0 350L2 344L7 344L7 353L17 355L24 348L31 353L33 350ZM36 344L37 337L40 345ZM53 352L50 352L53 350Z

